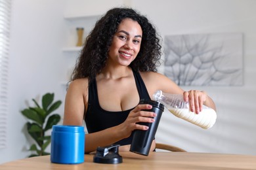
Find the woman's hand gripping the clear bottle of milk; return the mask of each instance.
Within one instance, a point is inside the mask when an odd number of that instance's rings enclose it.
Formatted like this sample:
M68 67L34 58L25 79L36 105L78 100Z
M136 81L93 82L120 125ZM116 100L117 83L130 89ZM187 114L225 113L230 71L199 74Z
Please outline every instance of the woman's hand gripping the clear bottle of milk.
M207 99L207 93L199 90L190 90L183 93L184 101L187 101L190 105L190 110L200 113L203 110L203 103Z

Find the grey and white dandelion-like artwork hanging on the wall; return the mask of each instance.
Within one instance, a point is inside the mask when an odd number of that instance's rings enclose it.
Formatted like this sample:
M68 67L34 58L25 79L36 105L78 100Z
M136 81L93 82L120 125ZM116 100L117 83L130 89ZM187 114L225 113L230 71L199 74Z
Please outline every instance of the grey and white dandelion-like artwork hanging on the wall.
M242 33L167 35L164 74L180 86L242 86Z

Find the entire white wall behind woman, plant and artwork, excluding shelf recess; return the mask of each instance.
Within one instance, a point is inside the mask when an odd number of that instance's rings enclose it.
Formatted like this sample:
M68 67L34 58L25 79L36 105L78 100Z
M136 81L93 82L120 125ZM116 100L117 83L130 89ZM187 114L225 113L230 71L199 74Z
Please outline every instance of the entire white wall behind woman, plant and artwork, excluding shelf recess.
M41 99L43 93L54 92L55 99L64 102L66 91L60 82L66 78L68 63L74 62L74 58L62 52L66 43L64 14L104 13L123 3L146 14L162 37L182 33L244 33L244 86L183 87L205 90L211 95L218 111L215 126L203 130L165 112L156 139L190 152L256 155L256 1L12 0L7 148L0 150L0 163L30 155L30 143L24 136L26 119L20 110L28 103L32 105L32 98ZM63 107L64 104L57 112L62 114Z

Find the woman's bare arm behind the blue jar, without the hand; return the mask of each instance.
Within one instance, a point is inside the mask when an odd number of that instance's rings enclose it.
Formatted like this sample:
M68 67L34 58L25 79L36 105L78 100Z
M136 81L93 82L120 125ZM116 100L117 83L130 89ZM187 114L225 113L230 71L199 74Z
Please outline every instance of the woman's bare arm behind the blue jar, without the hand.
M82 126L87 108L87 79L77 79L68 88L65 99L64 125ZM106 146L120 139L117 129L110 128L85 135L85 152L92 152L98 146Z

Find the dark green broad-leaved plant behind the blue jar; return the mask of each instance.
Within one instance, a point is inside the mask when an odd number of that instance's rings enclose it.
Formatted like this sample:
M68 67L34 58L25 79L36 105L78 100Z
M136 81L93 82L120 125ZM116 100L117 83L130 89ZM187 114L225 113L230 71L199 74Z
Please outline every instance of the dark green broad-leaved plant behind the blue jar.
M51 135L45 135L45 132L60 122L60 115L51 113L58 109L62 103L60 100L55 102L53 100L54 93L45 93L42 97L41 106L35 99L32 99L35 107L28 107L21 111L29 119L26 127L28 134L35 140L35 144L30 146L30 151L35 151L36 154L31 154L29 157L50 154L45 152L45 149L51 143Z

